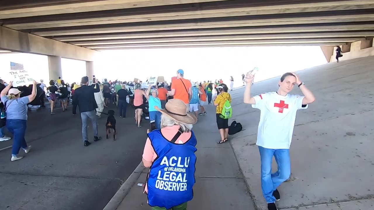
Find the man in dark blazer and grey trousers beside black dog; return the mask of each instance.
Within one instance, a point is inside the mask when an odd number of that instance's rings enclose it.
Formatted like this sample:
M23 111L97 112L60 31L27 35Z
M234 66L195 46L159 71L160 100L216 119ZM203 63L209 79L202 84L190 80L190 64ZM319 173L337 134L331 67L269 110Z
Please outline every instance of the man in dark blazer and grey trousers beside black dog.
M94 141L98 141L101 137L98 136L98 116L95 109L97 104L94 93L100 92L99 84L94 81L95 87L88 86L88 77L82 77L82 86L77 88L73 96L73 115L76 115L77 106L79 106L80 117L82 117L82 137L85 146L89 146L91 142L88 141L87 127L88 118L92 121L92 129L94 132Z

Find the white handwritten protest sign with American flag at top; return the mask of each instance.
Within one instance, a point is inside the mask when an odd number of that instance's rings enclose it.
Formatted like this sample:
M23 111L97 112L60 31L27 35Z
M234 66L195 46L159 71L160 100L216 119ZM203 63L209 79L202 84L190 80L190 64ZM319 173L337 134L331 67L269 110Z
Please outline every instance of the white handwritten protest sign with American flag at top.
M22 64L10 62L10 81L13 81L13 87L24 86L33 83L33 78L30 77L27 70Z

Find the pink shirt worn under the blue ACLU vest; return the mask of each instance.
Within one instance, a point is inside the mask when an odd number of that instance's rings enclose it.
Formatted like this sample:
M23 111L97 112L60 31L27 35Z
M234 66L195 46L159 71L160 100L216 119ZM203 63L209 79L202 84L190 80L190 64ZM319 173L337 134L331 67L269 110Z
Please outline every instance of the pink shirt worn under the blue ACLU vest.
M172 127L164 127L161 129L162 135L168 139L169 141L174 138L175 134L177 134L179 130L179 126L174 125ZM186 143L188 139L191 138L191 132L188 133L182 133L179 138L175 141L175 143ZM143 159L146 161L153 162L157 158L156 152L154 152L154 149L151 145L151 140L147 138L147 141L145 142L144 151L143 151ZM148 192L147 184L145 185L145 192Z

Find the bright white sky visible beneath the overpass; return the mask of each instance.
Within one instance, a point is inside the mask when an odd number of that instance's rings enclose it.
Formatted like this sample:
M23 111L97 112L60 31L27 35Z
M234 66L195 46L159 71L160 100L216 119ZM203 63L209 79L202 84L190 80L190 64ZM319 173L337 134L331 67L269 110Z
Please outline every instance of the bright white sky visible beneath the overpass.
M34 79L48 81L47 56L27 53L0 54L0 77L10 79L10 62L23 64ZM241 75L253 67L261 81L283 74L327 63L318 46L273 47L202 47L171 49L107 50L95 61L95 75L100 80L145 80L149 76L164 76L170 82L178 69L192 81L222 79L234 87L241 86ZM62 79L67 83L80 81L86 75L84 61L62 59Z

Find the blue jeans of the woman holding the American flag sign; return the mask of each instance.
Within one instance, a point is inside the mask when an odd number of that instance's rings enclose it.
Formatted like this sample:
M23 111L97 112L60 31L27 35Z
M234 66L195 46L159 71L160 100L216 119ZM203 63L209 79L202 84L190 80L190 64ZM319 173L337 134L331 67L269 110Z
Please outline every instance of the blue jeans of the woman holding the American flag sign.
M19 149L27 149L25 140L27 120L6 120L6 127L13 134L12 156L17 156Z

